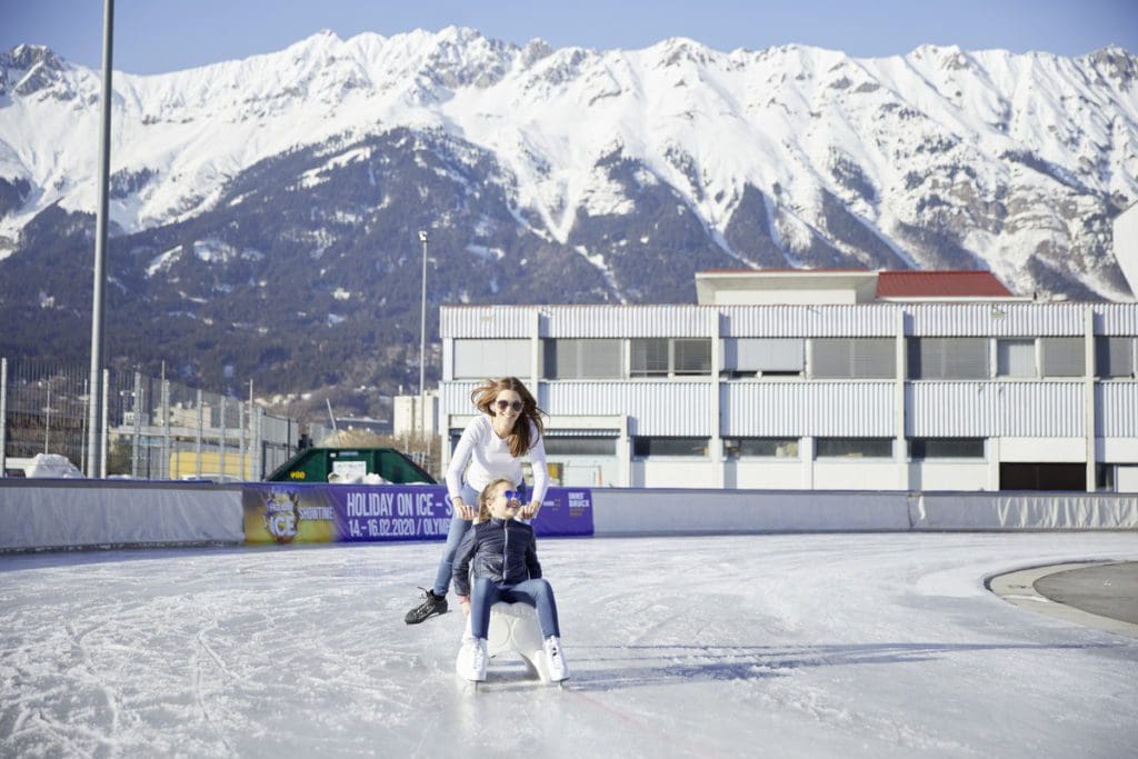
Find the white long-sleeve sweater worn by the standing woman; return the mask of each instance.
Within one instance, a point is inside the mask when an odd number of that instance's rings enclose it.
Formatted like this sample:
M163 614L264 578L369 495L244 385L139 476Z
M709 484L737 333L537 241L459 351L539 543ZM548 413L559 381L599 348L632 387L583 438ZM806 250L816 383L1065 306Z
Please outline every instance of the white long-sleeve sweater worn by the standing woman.
M520 420L519 420L520 421ZM545 501L550 477L545 469L545 442L538 435L537 428L530 422L529 439L533 442L527 457L534 469L534 489L530 501ZM467 468L467 464L470 468ZM462 473L467 473L467 482L476 492L498 477L505 477L511 482L521 484L521 459L510 454L510 442L503 440L494 431L494 420L487 414L479 414L470 420L462 430L454 456L446 470L446 490L455 498L462 494ZM468 504L476 506L477 504Z

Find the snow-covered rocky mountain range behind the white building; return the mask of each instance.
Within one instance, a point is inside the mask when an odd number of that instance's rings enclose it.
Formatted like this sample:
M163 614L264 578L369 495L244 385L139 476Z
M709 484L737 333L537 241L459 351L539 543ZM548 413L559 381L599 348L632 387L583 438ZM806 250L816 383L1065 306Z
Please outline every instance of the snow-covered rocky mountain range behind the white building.
M351 320L333 307L417 281L419 226L436 303L692 300L693 271L727 266L984 267L1021 294L1131 297L1110 222L1138 200L1138 59L1119 48L553 50L451 27L114 83L113 274L199 321L256 322L218 294L297 257L339 294L299 311ZM48 49L0 55L0 274L66 259L98 99L98 72Z

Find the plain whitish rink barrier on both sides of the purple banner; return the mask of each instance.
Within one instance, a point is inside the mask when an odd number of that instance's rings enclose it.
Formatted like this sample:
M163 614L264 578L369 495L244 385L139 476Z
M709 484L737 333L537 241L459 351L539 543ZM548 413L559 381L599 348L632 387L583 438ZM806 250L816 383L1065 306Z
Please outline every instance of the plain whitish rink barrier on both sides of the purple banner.
M594 535L1136 530L1138 494L592 489ZM240 485L0 479L0 551L245 543Z

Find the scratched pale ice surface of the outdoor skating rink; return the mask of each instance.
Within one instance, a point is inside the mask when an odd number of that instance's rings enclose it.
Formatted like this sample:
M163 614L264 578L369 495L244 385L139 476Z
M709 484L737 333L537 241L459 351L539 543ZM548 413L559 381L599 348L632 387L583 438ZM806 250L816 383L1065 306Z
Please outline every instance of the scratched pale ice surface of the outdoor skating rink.
M572 679L477 692L440 551L0 556L0 756L1138 756L1138 640L984 588L1133 533L544 539Z

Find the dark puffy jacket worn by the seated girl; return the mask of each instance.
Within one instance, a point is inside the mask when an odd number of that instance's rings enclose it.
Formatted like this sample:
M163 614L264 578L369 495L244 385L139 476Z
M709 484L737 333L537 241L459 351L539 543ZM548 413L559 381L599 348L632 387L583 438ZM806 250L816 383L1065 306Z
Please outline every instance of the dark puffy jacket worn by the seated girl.
M542 576L534 528L514 519L490 519L475 525L462 537L454 555L454 592L470 595L470 570L475 579L517 585Z

